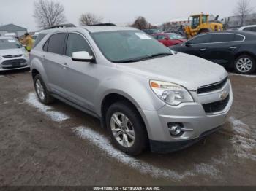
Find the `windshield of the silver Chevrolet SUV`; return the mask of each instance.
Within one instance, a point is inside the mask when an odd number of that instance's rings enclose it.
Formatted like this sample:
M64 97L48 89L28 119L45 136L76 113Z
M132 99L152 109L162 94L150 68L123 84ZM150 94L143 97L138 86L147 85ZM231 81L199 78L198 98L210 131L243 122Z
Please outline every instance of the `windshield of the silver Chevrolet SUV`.
M140 61L170 55L170 49L141 31L108 31L91 34L102 54L112 62Z

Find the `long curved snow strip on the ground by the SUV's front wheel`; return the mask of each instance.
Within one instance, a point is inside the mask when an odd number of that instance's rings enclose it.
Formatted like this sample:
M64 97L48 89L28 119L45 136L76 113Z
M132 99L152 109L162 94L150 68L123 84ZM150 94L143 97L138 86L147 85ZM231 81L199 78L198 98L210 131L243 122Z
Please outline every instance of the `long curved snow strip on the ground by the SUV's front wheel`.
M192 170L184 171L183 173L178 173L176 171L172 171L169 169L159 168L157 166L151 165L150 163L143 162L141 160L137 160L134 157L130 157L129 155L124 154L118 149L114 148L110 141L97 133L91 128L86 128L84 126L73 128L75 134L80 136L83 139L89 140L92 144L102 149L110 157L115 158L121 163L129 165L132 168L137 169L142 174L150 174L155 178L165 178L165 179L176 179L181 180L186 178L187 176L195 176L198 174L204 174L207 176L217 176L219 174L219 170L215 168L213 165L208 165L206 163L198 163L194 164Z

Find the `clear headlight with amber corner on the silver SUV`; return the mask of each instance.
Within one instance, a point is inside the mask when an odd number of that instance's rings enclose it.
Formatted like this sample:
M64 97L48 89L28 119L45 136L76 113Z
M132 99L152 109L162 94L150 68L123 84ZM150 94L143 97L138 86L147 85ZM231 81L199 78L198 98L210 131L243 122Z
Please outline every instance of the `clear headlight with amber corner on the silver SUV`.
M162 101L171 106L178 106L184 102L194 102L190 93L180 85L151 80L150 86Z

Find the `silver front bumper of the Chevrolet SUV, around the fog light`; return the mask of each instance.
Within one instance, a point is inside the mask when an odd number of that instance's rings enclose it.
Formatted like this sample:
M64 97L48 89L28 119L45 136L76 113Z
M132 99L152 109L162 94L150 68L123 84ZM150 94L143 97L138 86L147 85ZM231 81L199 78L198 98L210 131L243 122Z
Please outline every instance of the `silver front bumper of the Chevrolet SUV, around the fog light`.
M219 94L223 91L230 96L225 109L218 113L206 113L203 104L218 101ZM233 104L233 92L229 81L221 90L205 95L194 93L193 98L195 98L194 103L184 103L179 106L165 105L158 111L140 110L153 152L184 149L207 136L207 132L215 131L225 123ZM184 131L178 137L171 136L168 128L170 122L180 123L188 131Z

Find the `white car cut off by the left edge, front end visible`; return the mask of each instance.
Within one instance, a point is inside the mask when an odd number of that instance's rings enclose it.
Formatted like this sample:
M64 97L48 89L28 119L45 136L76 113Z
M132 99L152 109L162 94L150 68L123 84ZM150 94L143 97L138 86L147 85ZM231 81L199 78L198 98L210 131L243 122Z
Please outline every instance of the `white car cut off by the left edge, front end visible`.
M0 37L0 71L29 68L29 52L17 39Z

